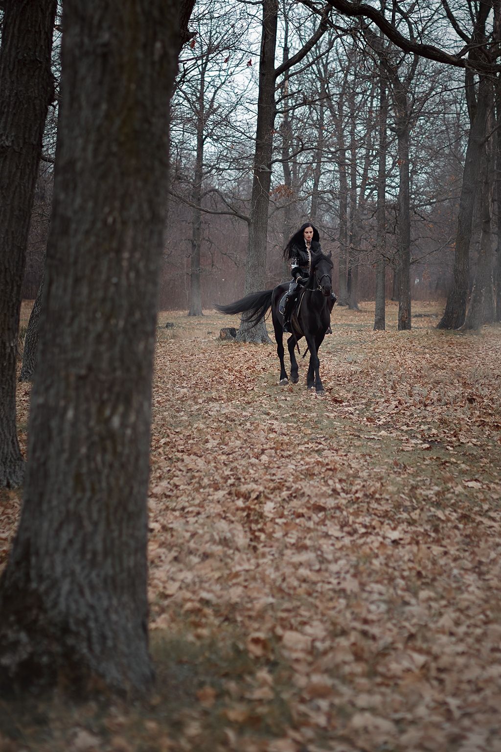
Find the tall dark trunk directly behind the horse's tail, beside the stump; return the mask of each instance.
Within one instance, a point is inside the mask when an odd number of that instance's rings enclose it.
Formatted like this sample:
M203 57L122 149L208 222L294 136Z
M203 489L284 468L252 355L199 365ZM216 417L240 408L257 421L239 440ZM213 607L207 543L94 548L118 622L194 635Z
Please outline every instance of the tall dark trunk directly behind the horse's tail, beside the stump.
M278 0L263 0L263 31L259 62L258 123L255 137L254 177L246 259L245 295L264 290L266 281L266 242L270 205L273 124L275 122L275 48ZM241 321L240 342L269 342L264 321L252 328Z

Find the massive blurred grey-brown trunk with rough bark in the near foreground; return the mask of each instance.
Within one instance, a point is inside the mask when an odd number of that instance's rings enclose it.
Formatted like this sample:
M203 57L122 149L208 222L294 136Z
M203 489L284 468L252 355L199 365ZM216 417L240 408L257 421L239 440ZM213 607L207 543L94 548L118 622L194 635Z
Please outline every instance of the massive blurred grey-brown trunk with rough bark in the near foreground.
M65 0L62 97L23 513L0 684L152 681L146 493L177 0Z

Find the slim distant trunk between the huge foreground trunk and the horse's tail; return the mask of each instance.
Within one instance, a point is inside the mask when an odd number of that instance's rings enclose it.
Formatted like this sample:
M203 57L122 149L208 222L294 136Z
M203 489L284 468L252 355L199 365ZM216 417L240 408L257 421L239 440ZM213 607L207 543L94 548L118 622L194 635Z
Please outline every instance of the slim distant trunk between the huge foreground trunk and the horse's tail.
M190 304L189 316L203 316L200 287L200 246L202 235L202 180L204 178L204 98L205 64L202 64L197 111L197 154L195 157L195 179L192 190L192 257L190 259Z

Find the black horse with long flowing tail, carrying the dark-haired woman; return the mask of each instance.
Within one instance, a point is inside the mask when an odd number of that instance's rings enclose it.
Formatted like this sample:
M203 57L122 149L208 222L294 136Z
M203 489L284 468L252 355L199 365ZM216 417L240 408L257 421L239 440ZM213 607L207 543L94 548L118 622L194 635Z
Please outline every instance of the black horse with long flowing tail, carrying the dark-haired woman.
M302 337L306 338L309 350L309 368L306 376L308 389L315 388L318 394L324 392L321 383L318 359L318 348L324 341L330 326L330 311L336 302L332 293L332 261L330 253L327 256L321 251L312 255L309 265L308 281L297 294L294 311L291 316L292 334L288 338L288 354L291 358L291 381L297 384L297 360L294 347ZM243 320L256 326L266 315L271 306L271 320L275 330L276 353L280 359L280 384L288 384L287 371L285 371L284 346L283 346L283 316L279 312L279 302L288 290L288 283L279 284L273 290L264 290L261 293L251 293L241 300L228 305L216 305L218 311L223 314L243 314ZM304 353L303 357L306 355Z

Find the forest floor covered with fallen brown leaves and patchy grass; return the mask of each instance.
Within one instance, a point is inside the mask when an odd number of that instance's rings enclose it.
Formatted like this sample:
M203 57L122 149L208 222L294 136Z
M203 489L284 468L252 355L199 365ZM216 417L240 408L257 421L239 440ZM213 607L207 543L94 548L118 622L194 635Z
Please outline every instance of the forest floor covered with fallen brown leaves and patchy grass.
M219 340L237 319L163 312L155 693L4 708L0 752L501 752L501 327L441 312L397 332L388 304L373 332L373 303L335 307L324 396L304 361L279 387L274 344Z

